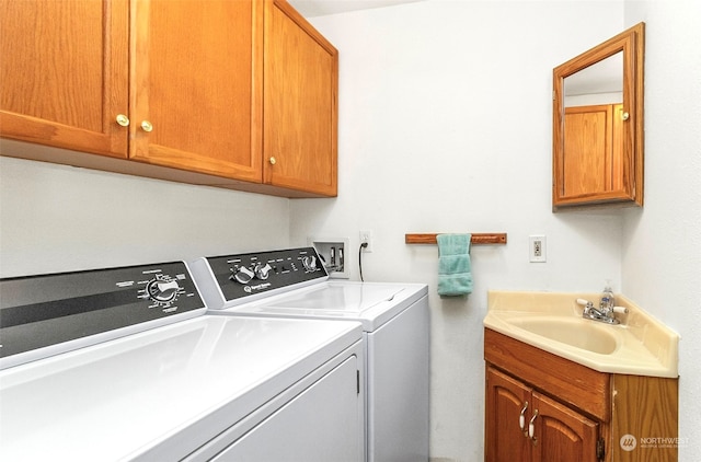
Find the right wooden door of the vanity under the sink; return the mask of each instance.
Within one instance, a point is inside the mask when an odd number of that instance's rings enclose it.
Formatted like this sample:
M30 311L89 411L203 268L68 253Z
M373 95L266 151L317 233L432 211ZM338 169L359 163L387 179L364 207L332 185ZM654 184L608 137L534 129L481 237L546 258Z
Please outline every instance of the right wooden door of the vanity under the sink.
M532 393L533 460L596 462L598 424L547 397Z

